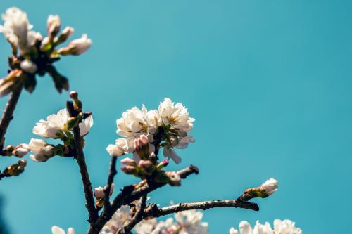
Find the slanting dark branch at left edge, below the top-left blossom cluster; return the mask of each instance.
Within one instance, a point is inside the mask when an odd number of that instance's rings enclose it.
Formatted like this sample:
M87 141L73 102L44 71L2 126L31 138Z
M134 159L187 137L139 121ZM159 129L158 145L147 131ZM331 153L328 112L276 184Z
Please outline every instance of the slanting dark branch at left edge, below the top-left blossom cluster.
M5 134L10 124L11 120L13 119L13 112L15 111L16 105L18 103L18 99L20 98L20 94L22 91L22 84L15 86L13 91L11 92L10 98L8 98L6 108L4 114L1 117L0 121L0 150L1 154L4 148L4 141L5 141Z

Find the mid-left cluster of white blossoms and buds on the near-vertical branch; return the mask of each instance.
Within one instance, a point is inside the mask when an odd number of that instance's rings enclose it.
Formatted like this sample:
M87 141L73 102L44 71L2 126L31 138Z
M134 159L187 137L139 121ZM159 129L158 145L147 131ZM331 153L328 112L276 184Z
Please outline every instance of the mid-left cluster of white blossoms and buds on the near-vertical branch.
M46 120L41 119L33 128L33 133L44 138L60 139L63 145L51 145L43 139L32 138L27 145L27 149L33 154L30 158L34 162L45 162L54 155L65 156L70 153L70 149L74 147L73 126L78 124L80 127L80 135L88 134L93 125L93 117L89 115L79 115L78 117L70 117L66 109L59 110L57 114L49 115Z

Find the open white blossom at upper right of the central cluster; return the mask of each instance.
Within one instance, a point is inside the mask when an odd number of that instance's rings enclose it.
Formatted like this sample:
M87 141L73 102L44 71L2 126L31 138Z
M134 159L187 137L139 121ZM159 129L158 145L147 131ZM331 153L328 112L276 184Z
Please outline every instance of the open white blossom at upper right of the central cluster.
M189 117L187 108L182 103L172 103L170 98L159 105L159 115L165 125L172 126L173 129L189 132L193 128L194 118Z

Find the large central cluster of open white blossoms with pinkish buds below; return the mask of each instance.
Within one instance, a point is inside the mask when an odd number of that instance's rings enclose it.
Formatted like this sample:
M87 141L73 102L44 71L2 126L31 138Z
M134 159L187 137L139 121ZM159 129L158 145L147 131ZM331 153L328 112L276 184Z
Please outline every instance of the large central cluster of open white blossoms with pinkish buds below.
M144 105L139 109L131 108L116 121L117 134L122 136L115 144L108 145L106 150L112 157L133 153L133 159L121 160L121 169L126 174L139 178L153 178L157 182L180 186L180 176L173 171L163 171L169 159L181 162L175 148L187 148L194 138L189 135L193 128L194 118L189 116L182 103L172 103L165 98L158 110L147 110ZM158 152L163 148L166 160L158 162Z

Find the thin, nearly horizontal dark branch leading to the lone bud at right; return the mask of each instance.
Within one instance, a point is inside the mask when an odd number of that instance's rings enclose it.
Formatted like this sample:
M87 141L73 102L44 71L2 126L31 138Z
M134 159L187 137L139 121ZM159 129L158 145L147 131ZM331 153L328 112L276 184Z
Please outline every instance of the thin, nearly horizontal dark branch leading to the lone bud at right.
M258 204L253 202L244 202L241 199L237 198L237 200L213 200L213 201L205 201L205 202L192 202L192 203L179 203L174 204L169 207L158 208L156 204L153 204L146 208L144 211L144 219L146 218L157 218L160 216L183 212L190 209L212 209L218 207L234 207L234 208L244 208L244 209L252 209L254 211L258 211Z

